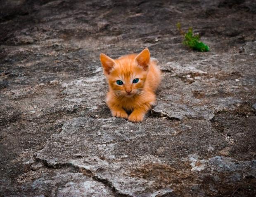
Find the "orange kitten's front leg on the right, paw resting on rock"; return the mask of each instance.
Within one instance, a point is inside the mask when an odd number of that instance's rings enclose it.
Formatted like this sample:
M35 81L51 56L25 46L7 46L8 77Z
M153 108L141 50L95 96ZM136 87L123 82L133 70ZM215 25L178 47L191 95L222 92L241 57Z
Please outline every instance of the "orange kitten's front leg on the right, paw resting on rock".
M143 118L145 116L145 114L147 113L147 111L149 111L149 109L151 109L152 105L147 102L143 105L141 105L140 107L137 107L133 110L133 112L130 114L130 116L128 117L128 121L131 122L142 122Z

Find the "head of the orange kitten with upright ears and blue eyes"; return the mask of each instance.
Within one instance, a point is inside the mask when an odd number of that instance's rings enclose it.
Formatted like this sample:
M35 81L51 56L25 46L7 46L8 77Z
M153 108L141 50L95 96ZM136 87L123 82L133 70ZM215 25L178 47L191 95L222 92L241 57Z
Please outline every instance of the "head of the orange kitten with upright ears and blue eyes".
M100 54L103 72L109 81L109 87L116 96L133 97L142 95L149 70L150 53L144 49L140 54L130 54L113 60Z

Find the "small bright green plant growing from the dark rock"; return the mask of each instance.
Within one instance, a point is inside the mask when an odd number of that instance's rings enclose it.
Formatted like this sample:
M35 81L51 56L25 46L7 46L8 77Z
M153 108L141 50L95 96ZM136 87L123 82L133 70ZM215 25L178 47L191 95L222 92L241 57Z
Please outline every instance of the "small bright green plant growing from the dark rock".
M210 50L209 46L204 44L204 42L199 42L200 37L199 35L193 34L192 27L190 27L186 33L183 32L183 30L181 29L180 23L177 23L177 28L178 30L180 30L180 34L183 35L184 37L184 40L183 40L184 45L200 52L206 52Z

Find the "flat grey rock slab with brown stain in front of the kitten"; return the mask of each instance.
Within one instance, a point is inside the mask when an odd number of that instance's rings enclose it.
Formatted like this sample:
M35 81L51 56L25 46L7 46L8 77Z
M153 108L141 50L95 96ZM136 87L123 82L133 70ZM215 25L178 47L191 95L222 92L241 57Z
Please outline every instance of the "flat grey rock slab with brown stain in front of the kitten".
M201 121L201 126L202 132L187 133L184 138L190 140L180 145L178 130L191 128L173 128L167 120L134 124L118 118L74 118L64 123L62 131L36 153L36 158L49 167L85 171L107 188L127 196L155 197L170 194L174 189L184 195L205 195L202 185L197 183L206 180L203 187L209 187L207 195L214 195L218 192L217 180L222 176L222 184L227 185L239 183L244 176L256 176L256 160L242 162L222 156L203 159L200 153L211 155L227 142L220 140L219 134L211 135L207 122ZM183 146L183 153L178 146ZM74 183L73 187L80 184ZM107 195L106 192L107 189L102 195ZM78 193L82 195L83 189Z

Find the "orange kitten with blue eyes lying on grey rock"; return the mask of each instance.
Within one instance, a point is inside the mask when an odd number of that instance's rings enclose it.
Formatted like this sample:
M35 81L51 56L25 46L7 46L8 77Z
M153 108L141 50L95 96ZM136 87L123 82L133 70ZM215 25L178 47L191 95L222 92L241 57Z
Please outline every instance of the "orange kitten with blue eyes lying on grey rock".
M109 83L106 101L112 115L142 122L156 101L154 92L161 81L157 61L150 59L148 49L115 60L101 53L100 61Z

